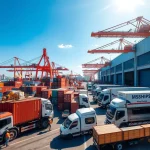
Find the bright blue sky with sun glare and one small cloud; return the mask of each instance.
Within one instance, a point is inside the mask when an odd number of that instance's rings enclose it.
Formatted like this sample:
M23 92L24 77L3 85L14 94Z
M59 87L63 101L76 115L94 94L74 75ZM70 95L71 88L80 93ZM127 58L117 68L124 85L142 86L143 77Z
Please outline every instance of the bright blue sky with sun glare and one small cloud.
M138 16L150 20L149 9L149 0L1 0L0 62L13 56L31 60L45 47L50 60L81 73L83 63L117 56L88 54L116 40L92 38L92 31Z

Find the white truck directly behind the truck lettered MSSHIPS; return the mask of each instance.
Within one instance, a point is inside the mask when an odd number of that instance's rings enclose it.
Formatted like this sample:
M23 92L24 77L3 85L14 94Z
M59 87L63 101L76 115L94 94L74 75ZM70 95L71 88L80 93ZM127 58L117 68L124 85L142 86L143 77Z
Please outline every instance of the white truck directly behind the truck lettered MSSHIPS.
M118 91L140 91L150 90L148 87L115 87L107 88L101 91L98 96L98 105L102 108L107 108L110 102L117 97Z

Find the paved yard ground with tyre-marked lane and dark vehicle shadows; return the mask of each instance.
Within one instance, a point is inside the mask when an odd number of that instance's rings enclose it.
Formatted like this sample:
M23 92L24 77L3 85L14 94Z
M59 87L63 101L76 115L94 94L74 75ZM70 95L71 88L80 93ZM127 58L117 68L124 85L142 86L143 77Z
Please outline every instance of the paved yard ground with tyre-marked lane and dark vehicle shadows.
M106 110L98 108L92 102L92 95L89 93L91 106L95 109L97 114L98 125L103 124ZM61 113L55 108L55 118L52 125L52 131L48 130L34 130L26 132L18 139L10 142L9 147L2 149L6 150L96 150L93 146L92 137L89 135L75 137L72 140L63 140L59 138L59 126L64 121L60 117ZM128 146L126 150L149 150L149 143L142 141L136 146Z

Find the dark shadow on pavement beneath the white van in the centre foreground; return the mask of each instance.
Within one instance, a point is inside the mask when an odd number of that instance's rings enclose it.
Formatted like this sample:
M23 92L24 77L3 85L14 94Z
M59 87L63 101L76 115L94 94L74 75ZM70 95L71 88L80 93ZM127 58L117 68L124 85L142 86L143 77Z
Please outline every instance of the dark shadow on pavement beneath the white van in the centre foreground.
M86 138L86 140L89 140L89 138L91 138L91 137L88 136ZM52 149L63 150L65 148L73 148L73 147L76 147L76 146L80 146L83 143L84 143L84 136L73 137L73 139L71 139L71 140L62 139L62 138L60 138L60 136L58 136L58 137L55 137L51 141L50 147Z

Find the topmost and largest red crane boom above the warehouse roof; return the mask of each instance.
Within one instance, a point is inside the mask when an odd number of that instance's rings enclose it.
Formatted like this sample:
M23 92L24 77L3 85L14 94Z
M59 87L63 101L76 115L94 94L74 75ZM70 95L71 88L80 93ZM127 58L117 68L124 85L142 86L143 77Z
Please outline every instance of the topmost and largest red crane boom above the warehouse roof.
M132 25L134 31L117 31L118 29L125 27L127 25ZM143 16L137 17L130 21L121 23L119 25L113 26L111 28L99 31L92 32L91 37L127 37L127 38L146 38L150 36L150 21L143 18Z

